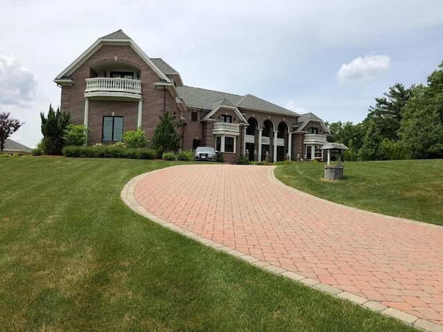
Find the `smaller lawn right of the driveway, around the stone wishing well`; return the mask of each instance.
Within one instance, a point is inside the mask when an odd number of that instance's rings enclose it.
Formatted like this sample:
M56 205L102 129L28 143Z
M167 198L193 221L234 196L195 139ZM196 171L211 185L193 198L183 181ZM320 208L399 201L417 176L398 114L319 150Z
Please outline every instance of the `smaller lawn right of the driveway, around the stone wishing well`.
M354 208L443 225L443 160L344 163L341 181L325 181L324 163L282 165L290 187Z

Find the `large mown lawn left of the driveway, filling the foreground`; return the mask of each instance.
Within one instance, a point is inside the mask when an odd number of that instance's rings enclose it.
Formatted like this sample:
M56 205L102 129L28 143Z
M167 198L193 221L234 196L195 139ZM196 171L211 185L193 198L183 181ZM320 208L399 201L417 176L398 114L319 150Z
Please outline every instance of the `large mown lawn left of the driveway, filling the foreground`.
M182 237L120 200L131 178L169 165L1 159L1 330L417 331Z

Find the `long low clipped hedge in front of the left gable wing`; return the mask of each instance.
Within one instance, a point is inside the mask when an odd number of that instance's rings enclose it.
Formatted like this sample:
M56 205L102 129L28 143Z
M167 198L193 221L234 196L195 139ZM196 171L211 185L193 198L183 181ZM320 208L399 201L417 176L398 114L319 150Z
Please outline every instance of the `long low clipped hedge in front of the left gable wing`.
M154 159L156 151L145 148L126 148L116 145L94 145L92 147L77 147L70 145L63 148L66 157L86 158L129 158Z

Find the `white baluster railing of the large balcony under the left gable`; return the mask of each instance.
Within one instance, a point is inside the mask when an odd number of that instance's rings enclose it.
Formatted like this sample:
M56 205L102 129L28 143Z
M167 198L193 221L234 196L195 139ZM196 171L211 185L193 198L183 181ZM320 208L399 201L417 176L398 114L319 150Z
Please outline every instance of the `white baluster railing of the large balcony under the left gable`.
M129 78L88 78L84 92L124 92L141 95L141 81Z

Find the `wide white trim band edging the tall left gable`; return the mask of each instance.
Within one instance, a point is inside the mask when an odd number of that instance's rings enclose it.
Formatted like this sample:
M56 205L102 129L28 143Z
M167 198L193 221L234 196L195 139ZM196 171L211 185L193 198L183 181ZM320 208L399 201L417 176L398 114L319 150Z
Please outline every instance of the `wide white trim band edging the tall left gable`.
M166 76L159 67L152 62L152 60L137 46L132 39L98 39L94 44L92 44L87 50L74 60L62 73L55 77L55 80L60 80L62 77L71 75L76 71L84 62L89 59L94 53L96 53L103 45L129 45L133 50L146 62L148 66L163 80L170 83L170 79Z

